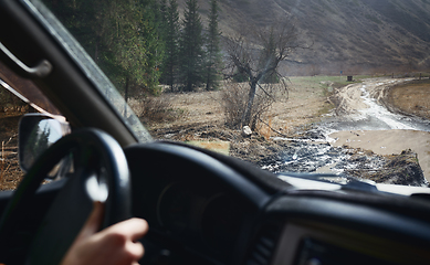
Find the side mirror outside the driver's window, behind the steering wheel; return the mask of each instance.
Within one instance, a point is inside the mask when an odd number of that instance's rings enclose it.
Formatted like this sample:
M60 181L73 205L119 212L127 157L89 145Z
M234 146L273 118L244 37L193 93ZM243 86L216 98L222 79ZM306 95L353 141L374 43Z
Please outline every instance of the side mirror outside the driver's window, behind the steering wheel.
M70 131L70 125L62 116L24 115L19 125L21 169L27 172L43 151Z

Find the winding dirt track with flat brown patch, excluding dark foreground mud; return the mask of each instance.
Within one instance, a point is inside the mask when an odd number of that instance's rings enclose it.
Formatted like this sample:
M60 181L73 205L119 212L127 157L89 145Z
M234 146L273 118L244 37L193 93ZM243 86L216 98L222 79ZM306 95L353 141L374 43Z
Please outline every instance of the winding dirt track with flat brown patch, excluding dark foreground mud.
M373 78L340 88L334 100L338 116L327 120L333 146L349 146L378 155L411 149L418 155L424 177L430 181L430 125L418 117L391 113L384 100L389 88L411 80ZM395 107L390 106L390 109Z

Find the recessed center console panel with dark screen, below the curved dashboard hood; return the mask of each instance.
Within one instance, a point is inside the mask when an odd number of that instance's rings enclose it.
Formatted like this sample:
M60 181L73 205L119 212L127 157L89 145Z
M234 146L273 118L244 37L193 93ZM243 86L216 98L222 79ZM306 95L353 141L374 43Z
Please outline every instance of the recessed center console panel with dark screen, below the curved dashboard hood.
M274 264L428 264L409 244L308 221L285 224Z

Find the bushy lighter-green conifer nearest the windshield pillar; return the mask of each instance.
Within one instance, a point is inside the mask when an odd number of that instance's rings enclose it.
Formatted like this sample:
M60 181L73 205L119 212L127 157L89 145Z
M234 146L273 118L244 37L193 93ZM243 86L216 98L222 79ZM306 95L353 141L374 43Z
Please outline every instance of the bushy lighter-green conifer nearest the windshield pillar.
M104 60L111 80L128 96L157 94L162 42L151 11L154 0L111 1L111 31Z

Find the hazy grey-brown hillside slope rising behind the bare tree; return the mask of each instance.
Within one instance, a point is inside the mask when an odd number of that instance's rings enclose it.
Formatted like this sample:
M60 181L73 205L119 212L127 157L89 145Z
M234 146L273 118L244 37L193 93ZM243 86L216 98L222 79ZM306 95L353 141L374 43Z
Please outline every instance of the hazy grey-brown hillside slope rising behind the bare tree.
M287 74L359 74L430 67L429 0L219 0L220 26L266 26L294 19L311 50L297 51ZM183 7L183 0L180 1ZM200 0L202 21L208 0Z

